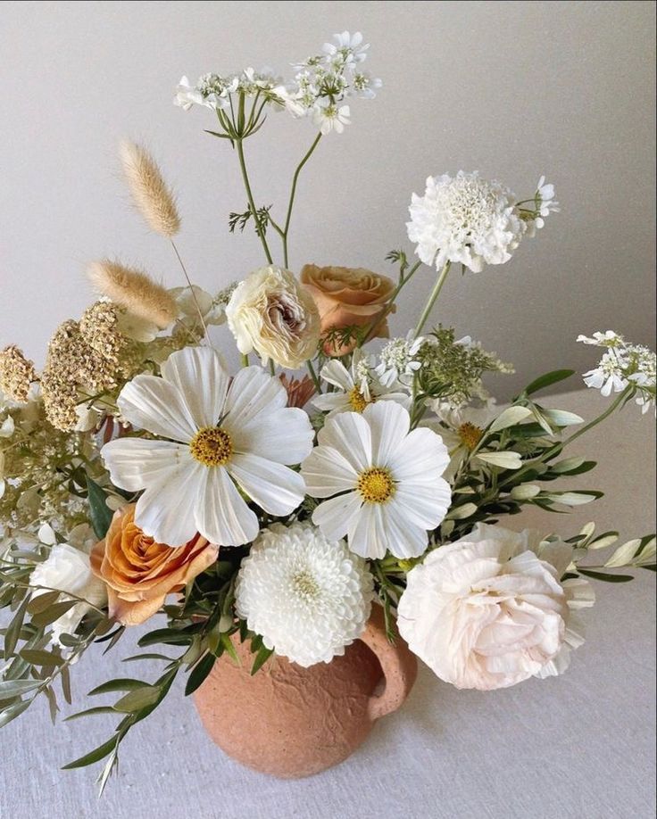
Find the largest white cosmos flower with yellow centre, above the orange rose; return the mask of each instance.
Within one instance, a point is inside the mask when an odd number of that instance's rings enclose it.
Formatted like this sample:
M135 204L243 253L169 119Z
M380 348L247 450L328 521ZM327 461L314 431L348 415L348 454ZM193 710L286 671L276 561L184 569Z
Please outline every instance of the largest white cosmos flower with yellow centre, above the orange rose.
M122 418L165 440L119 438L102 454L113 484L146 490L137 525L170 546L196 532L220 546L248 543L258 518L237 486L270 515L292 512L304 480L285 465L305 458L313 434L304 411L286 404L278 378L246 367L230 382L209 347L172 353L161 378L133 378L118 399Z

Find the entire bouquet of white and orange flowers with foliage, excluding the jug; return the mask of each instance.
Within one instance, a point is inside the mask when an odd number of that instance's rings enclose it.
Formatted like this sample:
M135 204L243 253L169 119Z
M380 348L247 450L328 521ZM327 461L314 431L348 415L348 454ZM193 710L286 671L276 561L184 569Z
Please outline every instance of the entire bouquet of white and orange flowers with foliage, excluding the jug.
M395 280L292 263L301 173L320 141L350 124L352 99L381 85L362 70L367 49L360 34L339 34L287 84L251 68L180 81L175 102L209 109L208 133L237 155L248 206L229 229L254 230L264 267L246 260L243 280L216 293L193 285L170 186L146 148L124 143L137 211L170 242L183 285L97 261L96 301L55 330L40 372L16 346L0 352L0 607L10 612L0 724L41 694L54 718L55 688L71 701L87 649L165 618L141 636L149 650L129 658L161 662L162 674L105 683L90 694L118 699L82 712L119 720L67 765L106 759L103 784L121 741L177 674L195 691L217 658L235 656L236 640L249 641L254 674L267 673L274 652L328 663L380 605L389 639L401 636L442 680L497 689L568 666L592 578L654 570L653 536L593 566L585 558L616 533L500 523L524 506L564 511L600 496L572 487L595 462L565 450L629 401L654 406L654 353L611 331L579 337L604 350L586 385L614 396L585 423L536 400L572 370L536 378L498 409L483 378L511 365L429 325L451 269L510 261L558 211L545 178L519 201L478 173L428 177L406 225L417 261L387 254ZM313 130L282 211L256 199L245 160L246 140L274 111ZM416 327L391 338L388 319L416 275L434 288ZM237 371L222 356L231 338Z

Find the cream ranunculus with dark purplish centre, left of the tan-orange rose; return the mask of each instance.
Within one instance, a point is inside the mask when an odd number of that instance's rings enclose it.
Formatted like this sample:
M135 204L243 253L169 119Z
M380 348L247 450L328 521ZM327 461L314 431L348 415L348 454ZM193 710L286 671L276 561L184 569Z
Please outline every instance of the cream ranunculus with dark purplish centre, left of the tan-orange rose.
M270 265L255 270L235 288L226 307L237 349L257 352L296 369L314 355L320 341L320 314L289 270Z

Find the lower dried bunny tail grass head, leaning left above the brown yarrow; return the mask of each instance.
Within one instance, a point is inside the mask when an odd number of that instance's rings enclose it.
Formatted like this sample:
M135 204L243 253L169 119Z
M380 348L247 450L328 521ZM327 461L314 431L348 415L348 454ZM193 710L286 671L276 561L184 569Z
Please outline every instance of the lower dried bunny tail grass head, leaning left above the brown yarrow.
M89 265L87 277L99 293L136 316L152 321L162 330L178 317L178 305L173 296L141 270L104 259Z

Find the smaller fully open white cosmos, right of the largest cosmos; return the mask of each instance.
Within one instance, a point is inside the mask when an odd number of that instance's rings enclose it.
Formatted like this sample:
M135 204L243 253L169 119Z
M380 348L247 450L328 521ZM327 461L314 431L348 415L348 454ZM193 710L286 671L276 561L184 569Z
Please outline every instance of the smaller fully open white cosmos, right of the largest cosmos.
M348 535L363 558L414 558L427 548L428 530L450 503L441 477L449 462L445 444L427 428L409 432L411 418L395 401L378 401L362 414L328 418L319 446L301 472L308 493L329 498L312 520L330 539Z

